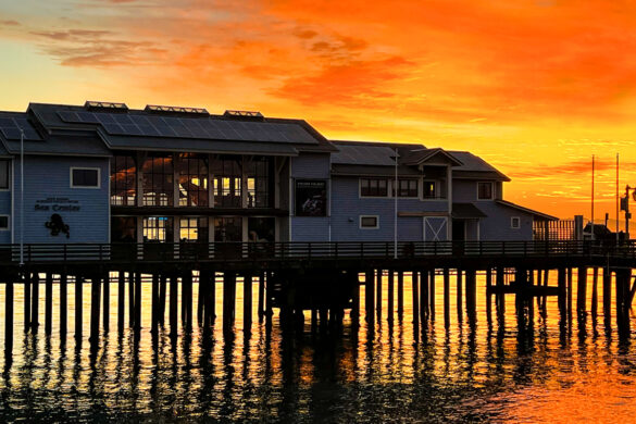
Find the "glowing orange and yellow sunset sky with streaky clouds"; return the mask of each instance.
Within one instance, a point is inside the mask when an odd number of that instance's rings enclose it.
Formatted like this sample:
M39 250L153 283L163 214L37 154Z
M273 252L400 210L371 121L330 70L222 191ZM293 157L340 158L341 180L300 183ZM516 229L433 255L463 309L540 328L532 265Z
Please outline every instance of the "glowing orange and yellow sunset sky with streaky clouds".
M331 139L469 150L504 197L615 216L636 186L633 0L0 0L0 109L261 111ZM633 204L636 210L636 204Z

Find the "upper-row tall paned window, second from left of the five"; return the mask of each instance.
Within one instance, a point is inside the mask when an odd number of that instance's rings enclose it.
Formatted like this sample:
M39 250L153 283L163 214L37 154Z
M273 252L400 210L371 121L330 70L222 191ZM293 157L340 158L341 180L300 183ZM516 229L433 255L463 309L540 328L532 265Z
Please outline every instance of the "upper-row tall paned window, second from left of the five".
M144 173L144 205L174 205L174 171L172 155L149 157L141 167Z

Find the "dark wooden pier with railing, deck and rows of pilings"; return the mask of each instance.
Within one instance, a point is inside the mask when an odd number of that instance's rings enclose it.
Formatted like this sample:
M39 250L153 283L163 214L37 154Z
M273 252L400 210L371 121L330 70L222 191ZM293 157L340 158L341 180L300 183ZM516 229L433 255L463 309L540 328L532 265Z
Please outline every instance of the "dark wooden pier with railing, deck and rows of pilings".
M364 308L370 325L401 322L404 314L404 277L410 277L413 327L425 328L436 320L435 296L444 296L444 323L449 325L451 285L457 286L457 313L463 320L476 315L477 274L485 276L487 307L491 297L498 313L504 312L506 295L514 295L517 309L534 313L545 308L547 296L557 296L563 316L594 315L598 311L599 275L602 284L602 312L608 320L613 301L619 333L628 335L629 309L636 294L633 270L636 245L599 245L591 241L466 241L399 242L267 242L187 245L25 245L25 263L17 262L17 245L0 246L0 282L5 287L4 349L13 348L14 287L24 285L25 332L37 333L40 287L45 295L45 333L52 333L52 299L60 299L60 337L67 328L67 290L75 294L74 335L83 338L83 292L90 290L91 347L108 333L110 287L116 283L117 325L126 326L125 298L128 286L127 324L141 331L141 284L151 284L151 327L164 328L166 302L170 335L179 328L189 333L194 321L194 287L197 287L196 323L204 331L216 319L215 296L223 296L223 328L232 331L236 310L242 308L244 328L249 331L255 297L259 321L272 324L273 309L279 310L280 324L296 328L309 312L313 328L339 325L350 311L354 325ZM576 271L576 304L573 304L573 273ZM587 284L591 270L591 305L587 310ZM556 273L557 286L549 275ZM554 275L554 274L552 274ZM438 288L436 282L441 278ZM454 279L454 282L452 282ZM242 283L242 303L237 302L237 282ZM252 289L257 283L258 289ZM386 290L384 287L386 285ZM180 286L180 292L179 292ZM361 289L365 302L360 304ZM383 308L386 294L387 308ZM180 304L180 311L178 305ZM575 311L573 311L575 308ZM180 313L179 313L180 312ZM386 312L386 316L383 313ZM575 313L573 313L575 312ZM180 327L178 316L180 314ZM607 322L607 321L606 321Z

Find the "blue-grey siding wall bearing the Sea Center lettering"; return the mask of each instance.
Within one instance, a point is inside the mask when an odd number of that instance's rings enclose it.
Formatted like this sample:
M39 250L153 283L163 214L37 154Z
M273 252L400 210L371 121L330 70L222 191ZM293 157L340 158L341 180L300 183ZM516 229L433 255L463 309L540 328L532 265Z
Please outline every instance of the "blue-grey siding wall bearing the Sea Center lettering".
M99 167L99 189L71 188L71 167ZM33 244L108 242L109 241L109 178L107 158L26 157L24 161L25 187L24 241ZM15 192L20 192L20 174L15 173ZM80 210L36 211L37 200L68 198L77 200ZM70 227L70 237L52 236L45 226L53 213L62 216ZM20 228L21 216L16 213L14 228ZM17 239L15 241L18 241Z

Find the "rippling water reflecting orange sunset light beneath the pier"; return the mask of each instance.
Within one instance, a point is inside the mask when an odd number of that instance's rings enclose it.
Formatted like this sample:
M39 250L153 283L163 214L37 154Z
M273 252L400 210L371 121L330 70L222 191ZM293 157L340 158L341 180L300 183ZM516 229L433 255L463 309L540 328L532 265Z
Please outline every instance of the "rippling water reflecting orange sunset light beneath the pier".
M414 337L409 277L404 278L404 316L396 317L392 326L386 321L384 292L383 319L373 328L366 326L361 311L359 329L347 314L340 331L312 334L307 313L300 336L284 332L277 313L267 331L258 322L255 301L251 332L244 332L239 280L234 332L222 329L217 285L219 316L211 336L203 337L195 323L190 336L182 334L174 342L167 324L158 337L150 334L150 284L142 287L140 337L136 339L127 326L120 337L117 290L112 284L111 331L102 333L95 353L87 339L88 287L84 290L85 338L77 345L73 284L68 285L65 340L60 339L57 315L52 336L43 334L43 285L39 333L24 334L23 291L15 286L13 363L0 378L0 421L633 421L633 336L620 339L613 322L607 328L602 308L597 317L588 315L578 322L575 316L561 325L557 298L549 298L547 315L537 310L533 327L520 331L514 298L508 296L503 321L495 312L488 317L483 277L477 283L475 323L465 314L458 315L452 279L450 323L445 325L439 278L436 320ZM591 279L588 286L591 292ZM257 288L254 283L254 294ZM197 285L195 316L196 295ZM2 305L3 297L2 287ZM58 299L53 311L59 311Z

